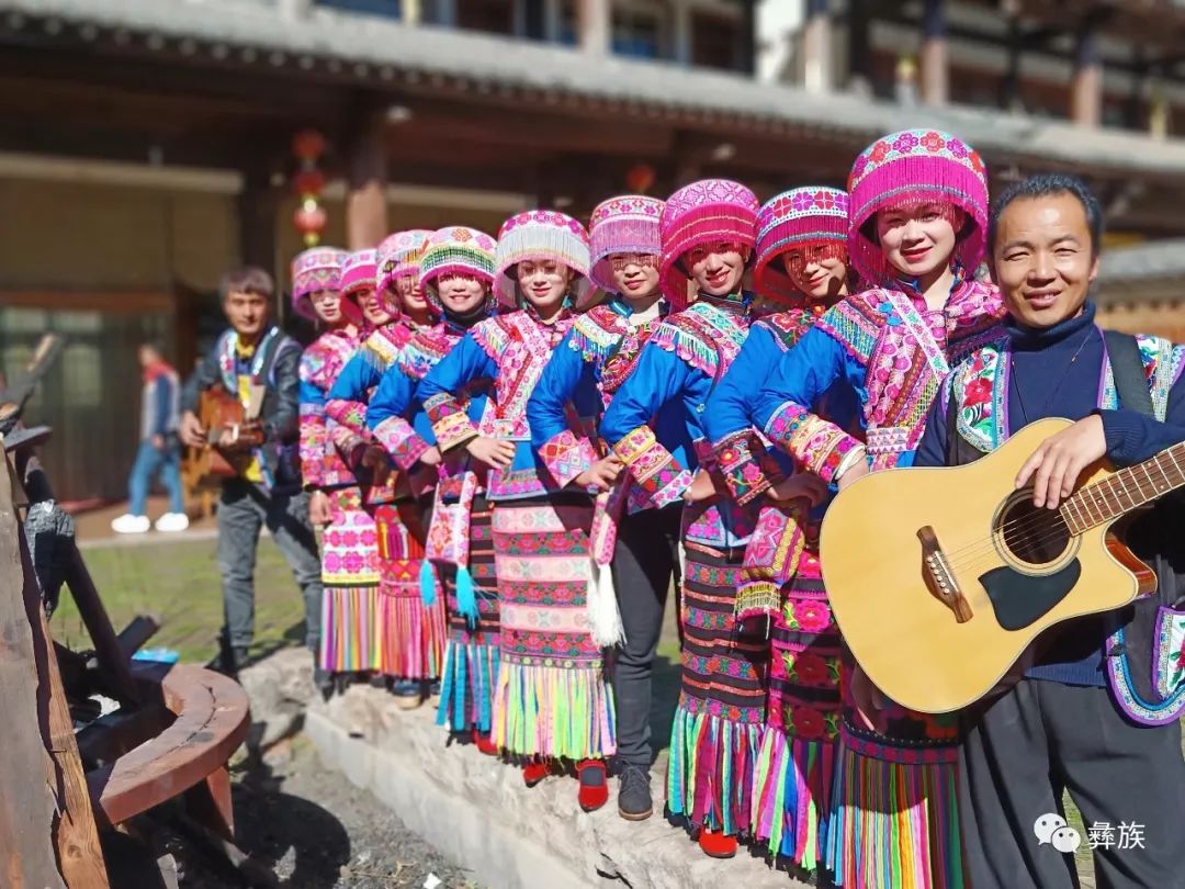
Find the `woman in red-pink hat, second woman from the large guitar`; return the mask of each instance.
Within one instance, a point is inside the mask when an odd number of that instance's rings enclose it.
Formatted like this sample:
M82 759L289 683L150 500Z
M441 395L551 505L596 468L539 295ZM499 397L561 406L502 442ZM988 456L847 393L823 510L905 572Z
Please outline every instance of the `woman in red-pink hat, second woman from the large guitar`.
M773 655L752 788L754 837L809 872L824 859L839 746L839 631L806 618L826 602L818 541L827 488L796 472L788 455L766 453L751 404L779 358L847 296L848 280L846 193L793 188L762 206L754 284L787 308L754 322L705 411L728 495L761 509L736 600L738 619L770 627ZM854 429L859 407L848 388L835 386L818 409ZM780 499L771 501L769 488L782 479Z

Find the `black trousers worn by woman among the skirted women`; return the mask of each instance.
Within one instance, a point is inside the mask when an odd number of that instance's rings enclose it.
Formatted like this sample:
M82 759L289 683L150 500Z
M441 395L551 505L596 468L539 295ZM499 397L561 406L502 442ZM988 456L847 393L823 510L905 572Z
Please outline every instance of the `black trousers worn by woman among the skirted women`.
M616 652L613 691L617 709L617 761L649 768L651 678L654 650L662 633L671 578L679 574L679 526L683 507L643 510L624 516L613 554L613 581L626 629Z

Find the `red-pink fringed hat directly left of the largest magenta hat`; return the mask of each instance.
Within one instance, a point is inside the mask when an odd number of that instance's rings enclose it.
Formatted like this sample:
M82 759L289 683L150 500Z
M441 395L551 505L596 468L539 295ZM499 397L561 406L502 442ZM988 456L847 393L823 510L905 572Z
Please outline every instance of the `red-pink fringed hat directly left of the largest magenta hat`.
M781 257L795 247L820 243L846 248L846 192L811 185L766 202L757 216L757 264L752 271L757 293L782 301L801 299L782 269Z

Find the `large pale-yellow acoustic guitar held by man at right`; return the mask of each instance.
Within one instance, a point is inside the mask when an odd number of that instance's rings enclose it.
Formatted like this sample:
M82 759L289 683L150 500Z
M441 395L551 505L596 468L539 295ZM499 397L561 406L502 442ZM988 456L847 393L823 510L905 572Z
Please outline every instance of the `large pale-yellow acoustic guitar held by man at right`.
M967 706L1043 629L1155 591L1113 526L1185 485L1185 442L1125 469L1101 461L1057 510L1037 509L1014 479L1070 424L1026 426L968 466L872 473L827 510L820 559L832 612L889 698L922 712Z

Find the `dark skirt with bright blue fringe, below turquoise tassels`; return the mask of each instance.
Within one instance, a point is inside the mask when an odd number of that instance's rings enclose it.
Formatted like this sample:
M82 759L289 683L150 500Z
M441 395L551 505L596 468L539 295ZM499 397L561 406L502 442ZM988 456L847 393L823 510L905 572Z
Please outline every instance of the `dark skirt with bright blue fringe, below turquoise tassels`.
M428 524L427 522L424 523ZM437 567L444 586L448 640L441 674L436 723L451 731L489 733L498 680L498 577L491 506L478 494L469 517L469 574L478 600L478 620L470 622L457 607L456 569Z

